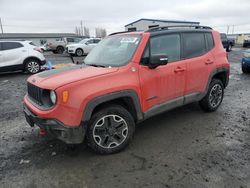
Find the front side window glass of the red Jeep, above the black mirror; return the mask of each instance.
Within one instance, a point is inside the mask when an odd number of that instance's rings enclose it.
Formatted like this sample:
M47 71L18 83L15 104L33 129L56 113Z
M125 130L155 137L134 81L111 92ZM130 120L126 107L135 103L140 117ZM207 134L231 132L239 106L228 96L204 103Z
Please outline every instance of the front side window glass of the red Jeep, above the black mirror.
M151 56L157 54L168 55L168 61L180 60L181 47L180 47L180 35L169 34L161 35L151 38L150 40L150 51Z

